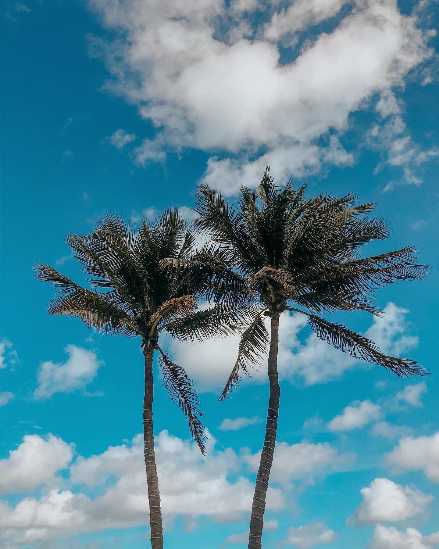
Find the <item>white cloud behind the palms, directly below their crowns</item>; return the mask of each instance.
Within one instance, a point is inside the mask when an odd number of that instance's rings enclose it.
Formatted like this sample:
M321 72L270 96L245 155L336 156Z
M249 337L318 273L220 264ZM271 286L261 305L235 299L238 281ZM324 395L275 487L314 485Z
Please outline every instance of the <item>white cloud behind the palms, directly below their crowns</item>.
M405 320L407 309L389 302L384 317L373 317L372 326L366 337L378 343L382 351L400 356L418 344L418 338L409 335L409 324ZM354 367L371 368L368 362L352 358L346 353L311 334L304 343L299 332L307 326L307 319L299 313L284 314L279 322L279 378L292 383L302 378L307 385L326 383L337 379ZM185 367L190 377L196 380L200 391L221 391L227 382L237 358L239 337L207 340L203 343L169 342L170 350L177 363ZM206 358L207 357L207 358ZM209 368L206 368L206 364ZM266 361L260 368L251 369L252 378L243 377L241 383L265 383Z

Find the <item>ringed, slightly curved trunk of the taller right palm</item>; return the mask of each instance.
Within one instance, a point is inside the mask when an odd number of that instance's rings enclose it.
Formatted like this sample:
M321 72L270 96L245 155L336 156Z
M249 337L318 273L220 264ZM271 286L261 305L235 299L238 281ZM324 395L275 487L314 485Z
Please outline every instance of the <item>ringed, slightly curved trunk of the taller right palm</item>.
M251 508L249 549L262 547L262 527L267 496L268 479L273 463L274 445L278 428L280 387L278 380L278 346L279 346L279 312L273 311L271 317L271 339L268 353L268 380L270 382L270 399L267 410L267 426L261 461L256 477L255 495Z

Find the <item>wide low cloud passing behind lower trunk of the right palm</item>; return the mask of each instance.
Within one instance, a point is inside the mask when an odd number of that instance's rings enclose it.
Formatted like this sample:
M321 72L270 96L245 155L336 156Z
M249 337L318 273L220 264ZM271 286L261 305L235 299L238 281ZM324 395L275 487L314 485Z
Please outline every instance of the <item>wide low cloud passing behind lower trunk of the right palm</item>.
M337 468L350 461L353 456L338 455L328 442L311 444L299 442L289 445L288 442L277 442L274 452L270 480L287 483L294 479L306 479L313 482L316 474L324 473L329 468ZM257 471L261 452L243 456L253 471Z

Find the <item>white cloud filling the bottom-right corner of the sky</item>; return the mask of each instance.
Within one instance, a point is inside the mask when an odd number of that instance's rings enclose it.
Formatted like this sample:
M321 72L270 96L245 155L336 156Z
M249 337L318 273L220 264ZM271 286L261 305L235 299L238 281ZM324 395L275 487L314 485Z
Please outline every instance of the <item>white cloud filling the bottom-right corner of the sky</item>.
M415 528L401 531L395 526L378 525L375 527L369 549L430 549L438 542L439 532L423 536Z

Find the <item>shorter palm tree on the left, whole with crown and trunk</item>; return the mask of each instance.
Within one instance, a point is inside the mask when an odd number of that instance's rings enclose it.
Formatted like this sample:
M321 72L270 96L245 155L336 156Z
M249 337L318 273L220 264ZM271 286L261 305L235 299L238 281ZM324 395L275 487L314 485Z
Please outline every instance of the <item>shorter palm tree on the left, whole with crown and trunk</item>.
M163 547L159 483L153 436L153 354L159 352L164 385L172 400L182 408L190 432L205 453L206 435L200 417L198 396L181 366L159 346L162 333L181 340L237 333L238 324L248 322L253 306L219 306L196 310L196 302L215 282L203 260L216 264L223 252L211 245L198 250L195 236L177 210L164 212L153 223L143 220L134 230L117 216L106 216L94 232L67 237L72 254L80 261L91 289L83 288L52 267L37 264L36 276L52 283L58 295L48 305L52 315L80 318L102 334L139 337L145 358L143 400L144 457L148 482L151 547ZM161 260L196 261L198 270L189 273L181 265L168 268Z

